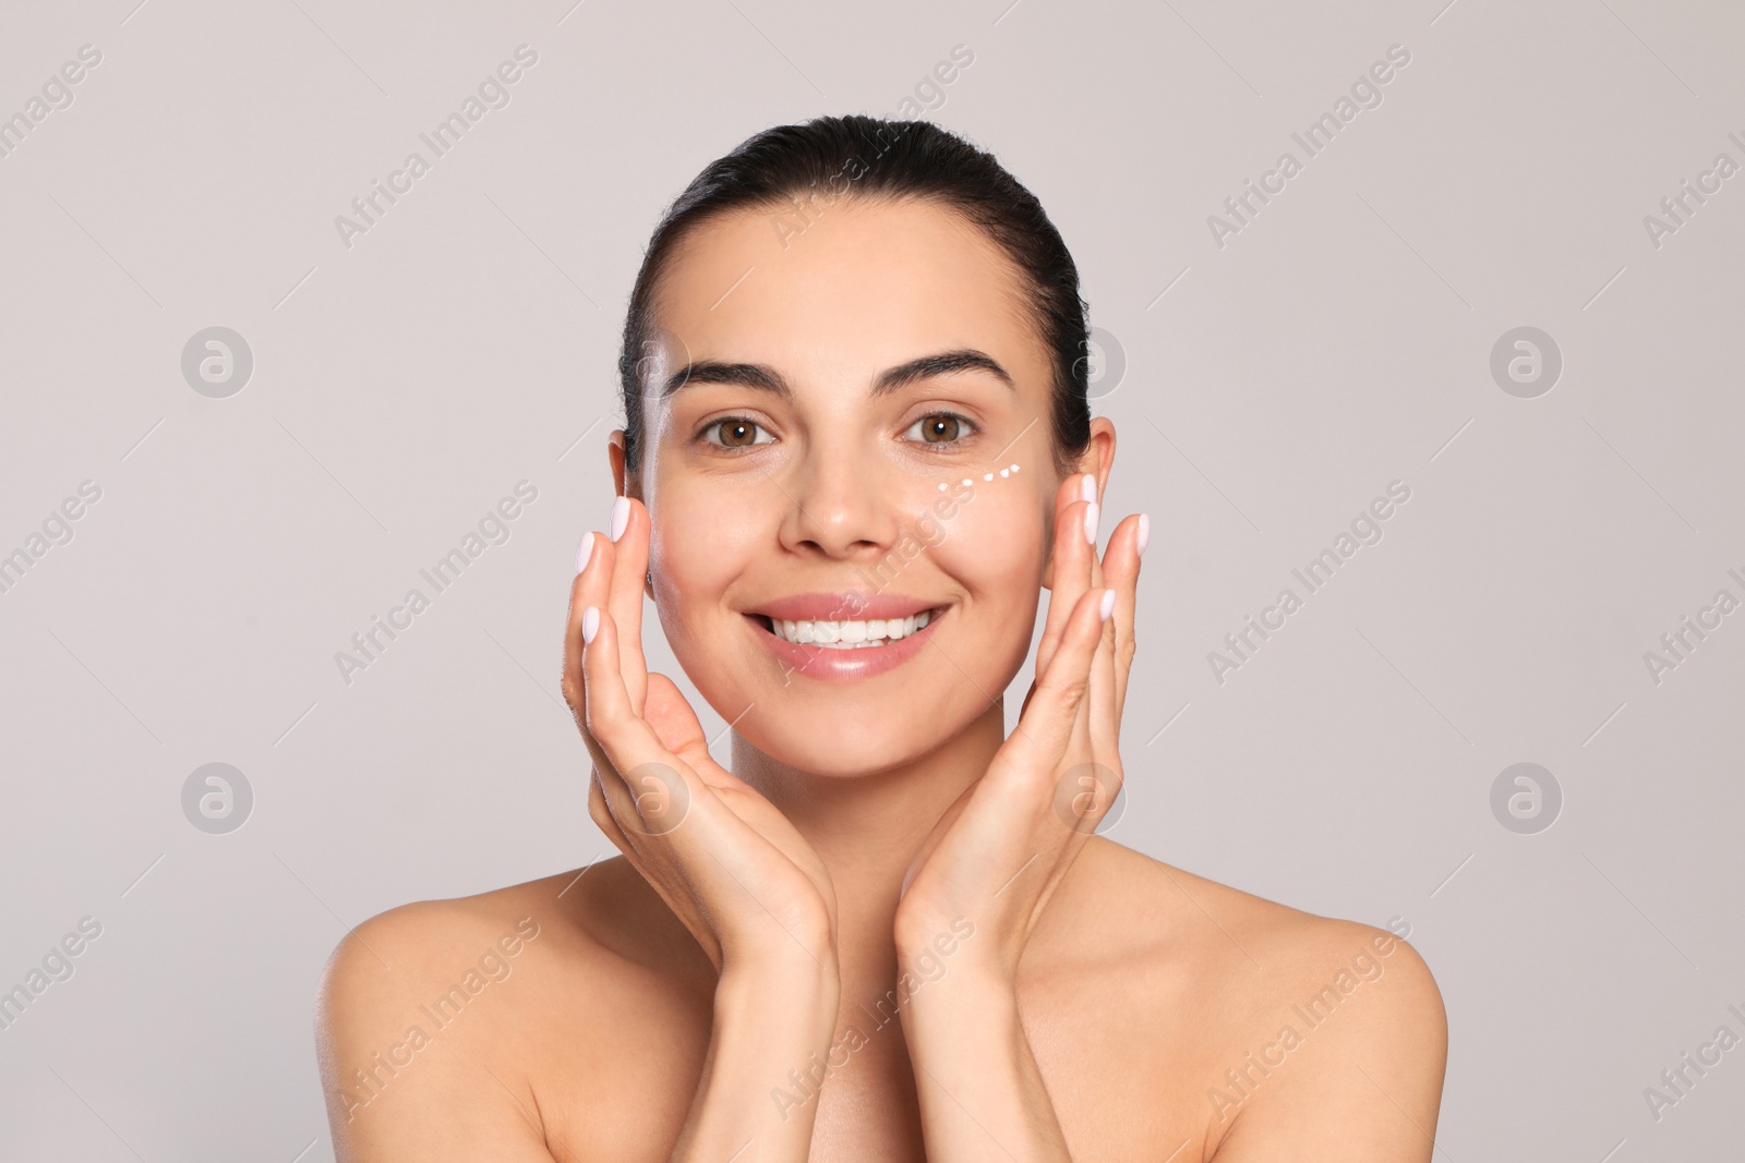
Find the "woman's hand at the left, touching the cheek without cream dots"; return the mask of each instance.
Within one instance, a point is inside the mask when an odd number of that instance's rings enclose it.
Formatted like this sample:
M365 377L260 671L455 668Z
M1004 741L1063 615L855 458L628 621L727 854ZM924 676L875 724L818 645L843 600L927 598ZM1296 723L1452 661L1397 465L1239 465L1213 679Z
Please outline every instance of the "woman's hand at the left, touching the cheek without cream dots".
M708 753L696 711L642 657L649 516L618 497L569 595L564 699L593 757L588 814L717 973L815 964L836 982L836 893L787 816ZM797 964L796 964L797 962Z

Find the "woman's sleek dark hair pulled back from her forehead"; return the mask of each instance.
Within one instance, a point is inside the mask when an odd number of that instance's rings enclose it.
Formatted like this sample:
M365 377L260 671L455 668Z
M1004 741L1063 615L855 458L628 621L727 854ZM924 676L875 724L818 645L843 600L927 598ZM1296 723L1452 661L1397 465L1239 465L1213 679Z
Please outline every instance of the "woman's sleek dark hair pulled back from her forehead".
M642 256L625 319L618 373L625 405L625 466L642 453L642 352L654 338L654 295L667 265L700 227L735 211L784 207L801 199L925 199L979 225L1024 272L1037 331L1052 352L1054 467L1057 473L1091 441L1087 403L1087 303L1078 267L1042 202L993 153L927 120L815 117L777 126L742 141L691 180ZM799 221L804 206L797 207Z

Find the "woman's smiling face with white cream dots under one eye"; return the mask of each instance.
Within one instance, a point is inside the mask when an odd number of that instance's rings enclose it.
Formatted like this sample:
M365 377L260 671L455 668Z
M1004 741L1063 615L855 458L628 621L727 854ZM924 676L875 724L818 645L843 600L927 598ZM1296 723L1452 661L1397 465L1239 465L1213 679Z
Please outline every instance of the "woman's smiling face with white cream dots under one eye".
M740 213L668 267L633 488L698 690L771 758L846 776L932 752L1023 664L1052 373L1017 269L967 220L862 201L796 230Z

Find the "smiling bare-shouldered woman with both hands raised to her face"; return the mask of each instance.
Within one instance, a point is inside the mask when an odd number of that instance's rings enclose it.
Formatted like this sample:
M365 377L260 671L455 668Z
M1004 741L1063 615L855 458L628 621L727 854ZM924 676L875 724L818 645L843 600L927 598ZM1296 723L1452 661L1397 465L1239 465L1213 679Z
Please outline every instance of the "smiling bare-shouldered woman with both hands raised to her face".
M1415 950L1096 835L1148 521L1098 554L1085 333L1042 207L928 122L784 126L691 183L564 638L621 856L340 943L340 1160L1431 1158Z

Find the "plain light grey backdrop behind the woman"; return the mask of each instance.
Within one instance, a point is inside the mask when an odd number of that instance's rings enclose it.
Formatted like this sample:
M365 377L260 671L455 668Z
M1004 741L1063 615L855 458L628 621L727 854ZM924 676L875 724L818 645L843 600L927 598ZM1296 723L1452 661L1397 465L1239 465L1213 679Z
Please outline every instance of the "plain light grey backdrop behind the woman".
M0 989L103 926L0 1030L7 1160L332 1158L311 1006L346 928L609 851L558 635L647 234L745 136L895 115L960 44L927 115L1038 194L1126 356L1106 509L1153 547L1113 837L1410 926L1440 1160L1738 1158L1745 1048L1658 1121L1642 1093L1745 1034L1745 612L1644 661L1745 598L1745 174L1644 225L1745 164L1738 5L136 2L0 14L0 117L101 52L0 157L0 554L101 488L0 595ZM510 105L347 248L335 216L522 44ZM223 399L181 375L209 326L253 352ZM1518 326L1564 357L1532 399L1490 375ZM511 537L347 684L335 652L522 479ZM1394 479L1384 539L1218 682ZM181 807L211 762L253 790L223 835ZM1490 806L1518 762L1564 797L1532 835Z

